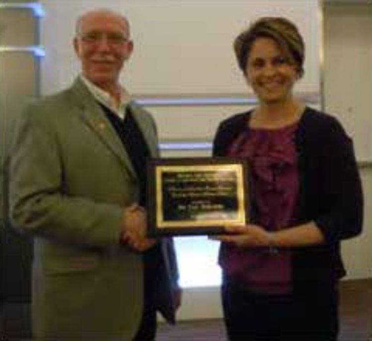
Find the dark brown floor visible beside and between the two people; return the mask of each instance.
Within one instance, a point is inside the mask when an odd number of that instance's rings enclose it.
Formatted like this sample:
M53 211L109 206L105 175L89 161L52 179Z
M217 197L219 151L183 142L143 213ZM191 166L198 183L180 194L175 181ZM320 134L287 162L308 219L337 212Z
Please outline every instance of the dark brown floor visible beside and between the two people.
M342 281L340 296L339 341L372 341L372 279ZM8 307L7 318L0 319L13 337L8 333L4 336L0 324L0 341L31 341L25 337L29 331L28 309L26 306L15 308ZM177 326L161 324L157 335L157 341L226 340L222 320L179 322Z

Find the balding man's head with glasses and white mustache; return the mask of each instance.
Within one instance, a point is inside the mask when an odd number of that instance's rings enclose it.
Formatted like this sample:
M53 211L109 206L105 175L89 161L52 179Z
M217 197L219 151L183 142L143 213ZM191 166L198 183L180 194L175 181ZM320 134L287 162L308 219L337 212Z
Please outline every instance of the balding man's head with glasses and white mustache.
M133 50L126 21L107 12L83 16L73 44L82 74L101 88L118 83L124 61Z

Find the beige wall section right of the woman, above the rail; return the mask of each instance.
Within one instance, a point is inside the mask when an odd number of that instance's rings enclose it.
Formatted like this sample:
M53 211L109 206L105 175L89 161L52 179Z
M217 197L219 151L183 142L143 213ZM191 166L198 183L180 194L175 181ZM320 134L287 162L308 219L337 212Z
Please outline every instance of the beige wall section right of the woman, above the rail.
M327 4L324 104L354 139L359 160L372 161L372 3Z

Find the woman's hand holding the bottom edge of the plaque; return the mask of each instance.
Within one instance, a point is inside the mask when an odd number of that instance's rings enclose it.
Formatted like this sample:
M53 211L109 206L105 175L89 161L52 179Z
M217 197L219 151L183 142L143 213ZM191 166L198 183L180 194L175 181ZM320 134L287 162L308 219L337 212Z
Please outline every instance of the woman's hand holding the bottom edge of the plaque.
M271 232L258 225L225 226L229 234L210 236L209 239L231 243L240 247L270 247L272 241Z

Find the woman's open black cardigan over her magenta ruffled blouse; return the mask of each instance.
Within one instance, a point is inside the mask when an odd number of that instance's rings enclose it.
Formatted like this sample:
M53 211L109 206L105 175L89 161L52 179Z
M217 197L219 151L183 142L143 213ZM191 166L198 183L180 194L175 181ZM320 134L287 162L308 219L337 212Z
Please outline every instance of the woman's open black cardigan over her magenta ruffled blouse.
M251 112L234 115L218 127L213 156L226 156L232 141L248 129ZM363 224L363 194L353 144L332 116L307 107L295 135L299 160L299 223L314 221L325 243L293 248L296 293L329 288L345 275L340 240L358 235Z

